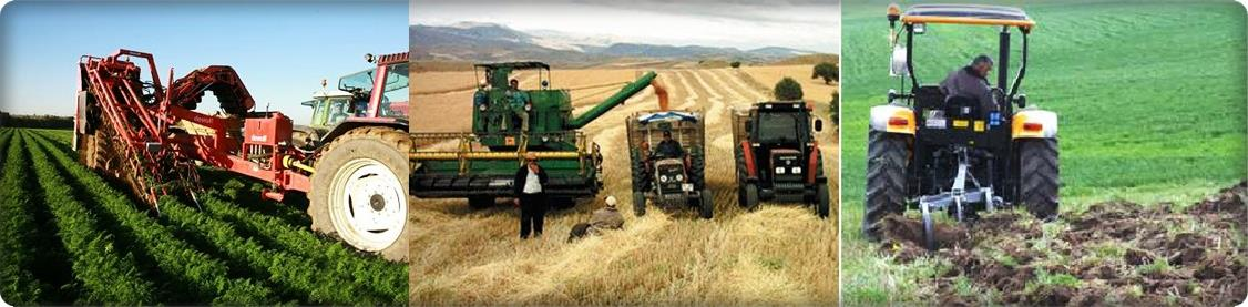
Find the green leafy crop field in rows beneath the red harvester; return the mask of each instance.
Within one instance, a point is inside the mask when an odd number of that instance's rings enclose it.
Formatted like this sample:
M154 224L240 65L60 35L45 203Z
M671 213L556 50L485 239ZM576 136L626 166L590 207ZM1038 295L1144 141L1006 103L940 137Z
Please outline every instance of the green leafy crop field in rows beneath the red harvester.
M318 236L262 185L202 170L150 217L70 131L0 129L0 293L14 305L403 305L407 270ZM306 206L306 205L303 205Z

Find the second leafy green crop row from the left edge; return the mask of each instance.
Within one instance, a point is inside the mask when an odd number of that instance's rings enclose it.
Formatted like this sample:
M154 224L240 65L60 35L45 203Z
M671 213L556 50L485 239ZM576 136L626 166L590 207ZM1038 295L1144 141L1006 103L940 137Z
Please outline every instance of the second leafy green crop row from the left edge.
M32 135L19 132L24 142ZM39 156L32 146L26 152ZM100 231L99 218L76 200L55 166L46 158L34 158L35 181L44 203L52 211L57 235L72 257L75 280L81 285L80 300L87 303L146 303L152 301L154 285L145 280L134 255L116 248L115 237ZM14 163L16 161L10 161ZM24 161L22 161L24 162Z

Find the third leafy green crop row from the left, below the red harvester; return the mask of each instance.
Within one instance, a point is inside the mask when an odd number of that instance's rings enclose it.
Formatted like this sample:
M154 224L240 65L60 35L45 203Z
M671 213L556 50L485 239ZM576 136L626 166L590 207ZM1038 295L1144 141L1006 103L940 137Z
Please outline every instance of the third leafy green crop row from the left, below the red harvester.
M72 183L85 191L91 201L105 211L119 226L125 227L134 237L139 248L150 256L160 271L171 276L162 286L175 288L180 297L165 301L213 302L232 305L255 305L273 302L271 290L250 278L230 278L228 267L221 260L213 258L193 248L186 241L170 236L170 230L137 211L126 195L110 187L104 178L86 167L74 162L64 151L52 149L45 140L37 140L39 146L31 146L44 157L57 162ZM45 163L46 163L45 158ZM51 171L51 166L47 167ZM64 186L64 185L62 185Z

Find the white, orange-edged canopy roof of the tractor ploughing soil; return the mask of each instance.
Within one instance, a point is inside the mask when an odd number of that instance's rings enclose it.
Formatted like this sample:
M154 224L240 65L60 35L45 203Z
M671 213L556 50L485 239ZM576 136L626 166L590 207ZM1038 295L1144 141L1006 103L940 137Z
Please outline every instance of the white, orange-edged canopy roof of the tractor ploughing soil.
M890 6L889 14L899 14L899 9ZM912 5L905 14L901 14L901 21L905 24L1018 26L1027 30L1036 26L1036 21L1031 20L1022 9L970 4Z

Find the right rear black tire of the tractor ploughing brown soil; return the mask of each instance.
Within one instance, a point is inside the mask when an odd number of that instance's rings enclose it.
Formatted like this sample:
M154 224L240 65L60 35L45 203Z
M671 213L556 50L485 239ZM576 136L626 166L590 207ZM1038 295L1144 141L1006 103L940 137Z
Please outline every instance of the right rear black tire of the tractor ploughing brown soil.
M1018 141L1018 201L1037 218L1057 218L1057 139Z

